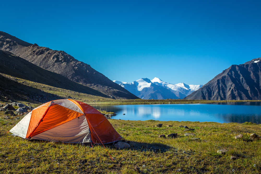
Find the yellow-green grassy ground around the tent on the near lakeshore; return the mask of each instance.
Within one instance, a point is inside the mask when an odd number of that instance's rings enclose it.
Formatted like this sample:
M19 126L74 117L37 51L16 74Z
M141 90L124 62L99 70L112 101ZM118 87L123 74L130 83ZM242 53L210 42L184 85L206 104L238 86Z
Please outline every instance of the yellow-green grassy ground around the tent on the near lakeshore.
M112 145L106 145L106 149L98 145L90 148L78 144L27 141L4 134L20 119L4 119L0 112L1 123L4 123L0 126L0 173L138 173L135 166L141 172L157 174L178 173L177 169L183 169L184 173L261 172L261 140L246 142L233 138L238 134L243 134L246 139L251 133L260 135L261 125L257 124L112 119L109 120L111 124L131 145L131 149L116 150ZM155 127L158 123L163 127ZM180 125L195 129L189 132L200 140L184 136L184 128ZM179 137L158 138L170 133L177 133ZM218 154L217 150L223 148L229 151ZM239 159L230 160L232 155Z

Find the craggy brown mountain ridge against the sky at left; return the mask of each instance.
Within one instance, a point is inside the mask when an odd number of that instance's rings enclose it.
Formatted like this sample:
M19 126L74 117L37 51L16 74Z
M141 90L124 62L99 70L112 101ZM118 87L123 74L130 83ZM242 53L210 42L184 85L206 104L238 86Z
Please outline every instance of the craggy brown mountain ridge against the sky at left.
M0 50L9 51L41 68L61 74L72 81L89 86L112 97L138 98L94 70L90 65L76 60L64 51L30 44L1 31Z

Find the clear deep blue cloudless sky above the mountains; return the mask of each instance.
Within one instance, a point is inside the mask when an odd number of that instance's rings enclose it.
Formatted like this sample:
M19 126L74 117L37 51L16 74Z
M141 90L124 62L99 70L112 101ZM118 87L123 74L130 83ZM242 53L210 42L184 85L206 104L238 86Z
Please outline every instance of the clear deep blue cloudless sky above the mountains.
M1 1L0 31L111 80L205 84L261 57L261 1Z

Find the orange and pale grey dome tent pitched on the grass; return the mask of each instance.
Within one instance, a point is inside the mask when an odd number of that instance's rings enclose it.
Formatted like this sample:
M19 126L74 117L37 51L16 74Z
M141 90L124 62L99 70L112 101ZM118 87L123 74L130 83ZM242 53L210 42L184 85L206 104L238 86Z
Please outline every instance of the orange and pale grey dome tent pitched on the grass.
M111 143L122 137L90 105L63 99L49 101L29 112L11 130L25 139L66 143Z

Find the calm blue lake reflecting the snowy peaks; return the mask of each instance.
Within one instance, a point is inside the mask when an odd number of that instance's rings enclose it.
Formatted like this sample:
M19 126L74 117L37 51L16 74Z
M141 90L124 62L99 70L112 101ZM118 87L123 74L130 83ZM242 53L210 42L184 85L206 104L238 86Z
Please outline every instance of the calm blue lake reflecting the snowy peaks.
M123 120L261 123L261 102L92 106L115 112L113 118Z

